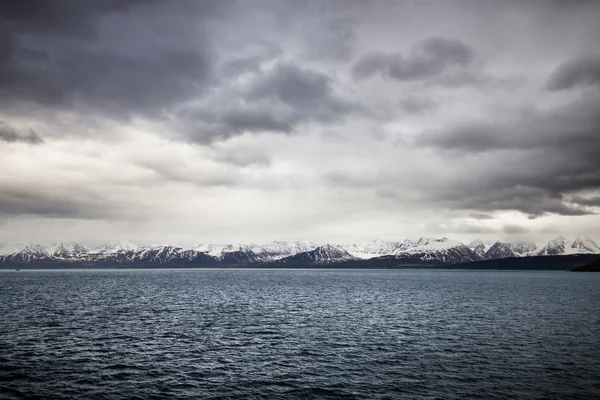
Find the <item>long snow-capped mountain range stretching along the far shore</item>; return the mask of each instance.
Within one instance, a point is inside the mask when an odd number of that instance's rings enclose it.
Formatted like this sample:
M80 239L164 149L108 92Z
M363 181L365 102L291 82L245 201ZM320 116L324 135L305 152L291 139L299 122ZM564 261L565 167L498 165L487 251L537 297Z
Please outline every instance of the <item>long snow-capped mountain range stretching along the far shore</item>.
M118 241L90 248L77 242L51 245L13 243L0 245L0 265L38 266L444 266L536 256L598 254L600 247L588 237L567 240L559 236L538 248L529 241L474 240L468 244L448 238L421 238L398 242L375 240L362 244L325 244L274 241L255 244L201 244L137 246Z

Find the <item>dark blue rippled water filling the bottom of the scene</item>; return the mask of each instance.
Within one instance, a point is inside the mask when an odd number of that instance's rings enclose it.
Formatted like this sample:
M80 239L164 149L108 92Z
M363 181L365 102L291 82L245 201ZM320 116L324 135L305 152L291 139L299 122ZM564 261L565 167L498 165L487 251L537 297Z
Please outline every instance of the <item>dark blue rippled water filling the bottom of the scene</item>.
M600 398L600 274L0 272L0 397Z

